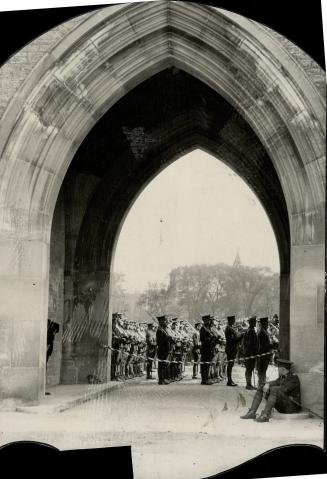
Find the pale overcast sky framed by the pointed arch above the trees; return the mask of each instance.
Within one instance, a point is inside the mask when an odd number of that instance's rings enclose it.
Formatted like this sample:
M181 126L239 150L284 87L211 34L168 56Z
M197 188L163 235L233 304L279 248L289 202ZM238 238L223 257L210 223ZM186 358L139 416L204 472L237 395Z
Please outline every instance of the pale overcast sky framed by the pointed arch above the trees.
M279 272L276 239L254 193L229 167L196 150L175 161L144 189L117 242L114 270L130 292L167 282L191 264L243 264Z

